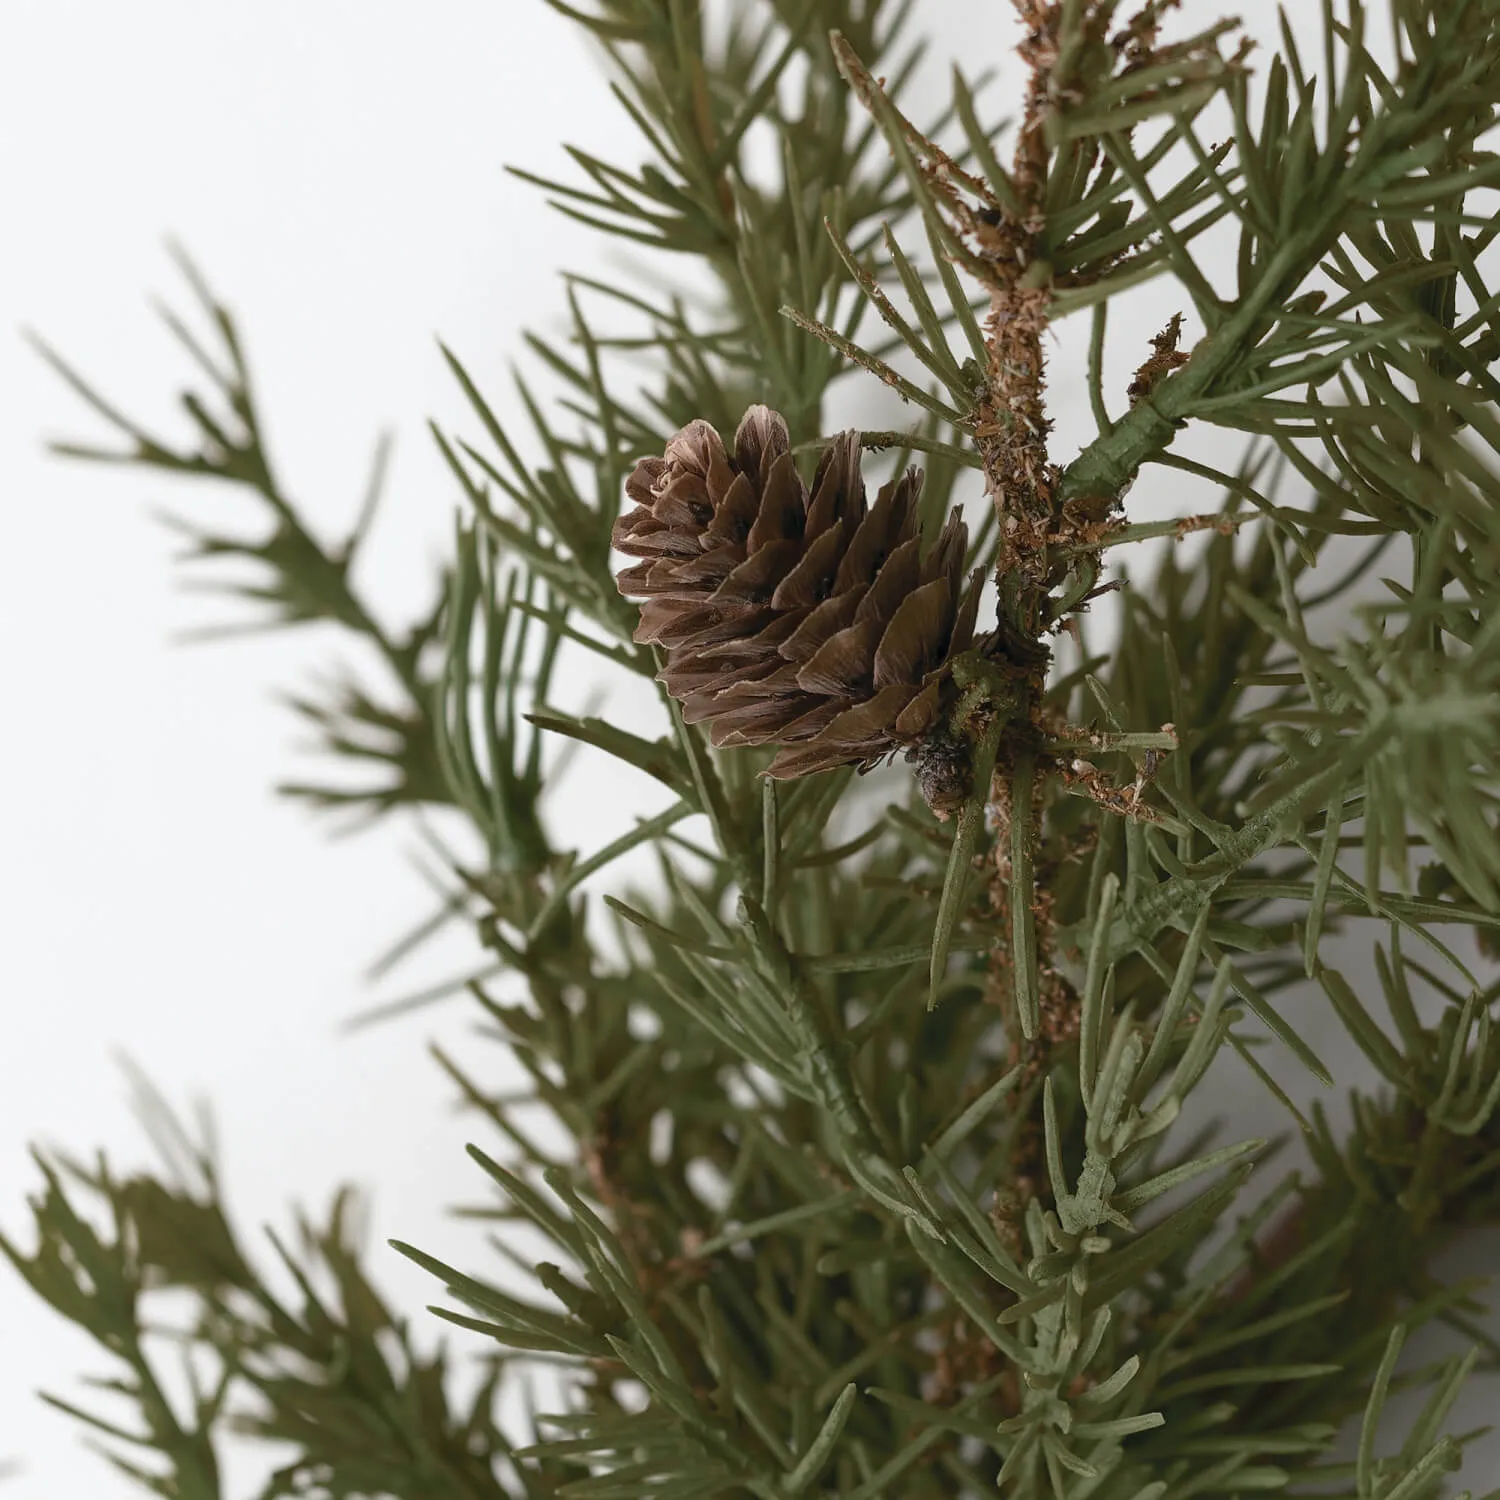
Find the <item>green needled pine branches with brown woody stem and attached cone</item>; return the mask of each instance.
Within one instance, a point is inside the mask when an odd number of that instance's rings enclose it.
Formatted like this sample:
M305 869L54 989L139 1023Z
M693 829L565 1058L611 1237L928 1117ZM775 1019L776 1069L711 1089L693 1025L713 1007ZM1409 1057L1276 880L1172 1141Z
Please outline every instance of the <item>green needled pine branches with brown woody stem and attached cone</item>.
M639 280L567 278L572 338L531 340L555 396L448 357L465 510L416 624L360 592L363 522L332 550L303 524L190 267L192 447L48 356L123 440L66 452L252 490L262 536L206 494L196 554L384 658L300 704L368 780L292 790L478 836L446 912L532 1092L442 1060L520 1274L396 1250L488 1378L454 1401L342 1197L276 1242L273 1296L159 1110L170 1176L39 1158L32 1246L0 1240L135 1414L50 1400L178 1500L220 1500L225 1430L292 1444L266 1497L1450 1492L1449 1407L1500 1353L1480 1288L1431 1274L1500 1218L1500 0L1323 0L1276 56L1203 3L1016 0L1023 87L954 70L938 120L903 106L912 0L552 3L634 135L542 188ZM711 297L664 290L684 266ZM1150 279L1182 314L1126 387L1108 314ZM834 386L876 382L908 424L831 430ZM1162 468L1218 508L1132 514ZM580 674L654 686L654 718L556 706ZM664 802L555 848L570 741ZM1276 1082L1336 1082L1320 1010L1370 1064L1342 1136ZM1216 1059L1306 1173L1185 1136ZM1473 1352L1400 1362L1434 1320Z

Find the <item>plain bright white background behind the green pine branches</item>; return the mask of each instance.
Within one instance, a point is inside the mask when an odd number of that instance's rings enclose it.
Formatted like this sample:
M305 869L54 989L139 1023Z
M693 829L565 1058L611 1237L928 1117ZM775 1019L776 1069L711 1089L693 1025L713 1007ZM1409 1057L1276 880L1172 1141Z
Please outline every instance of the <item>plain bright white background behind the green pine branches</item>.
M1002 6L924 9L938 62L998 56ZM1244 9L1269 39L1269 4ZM464 1002L338 1035L399 990L360 974L429 896L408 837L330 842L270 790L309 768L273 694L309 686L334 642L174 645L240 606L174 588L174 542L148 508L242 512L198 486L46 458L44 436L105 434L20 327L184 430L171 398L188 368L146 303L183 304L162 250L180 237L240 316L274 456L326 534L352 518L378 429L396 429L362 582L404 621L454 512L423 432L429 414L458 414L434 334L498 392L519 328L560 326L556 268L600 270L590 236L502 164L566 174L564 140L628 162L621 126L596 60L540 0L0 0L0 1228L24 1248L39 1184L27 1142L82 1156L108 1144L122 1168L150 1160L123 1048L176 1106L212 1100L242 1228L286 1228L292 1202L321 1216L346 1178L374 1186L370 1264L420 1318L436 1288L384 1238L464 1263L478 1236L442 1210L482 1188L462 1152L476 1126L424 1042L446 1038L490 1077L496 1064ZM1062 388L1064 408L1076 394ZM570 788L561 842L597 844L596 818L620 816L609 794ZM435 951L404 978L462 962ZM1312 1018L1308 1034L1338 1060L1336 1028ZM1258 1101L1234 1108L1256 1128ZM75 1377L108 1365L0 1269L0 1455L26 1461L8 1497L134 1492L30 1395L88 1404ZM1482 1408L1470 1401L1468 1422ZM1496 1455L1476 1452L1473 1484L1500 1478ZM260 1470L237 1455L231 1492Z

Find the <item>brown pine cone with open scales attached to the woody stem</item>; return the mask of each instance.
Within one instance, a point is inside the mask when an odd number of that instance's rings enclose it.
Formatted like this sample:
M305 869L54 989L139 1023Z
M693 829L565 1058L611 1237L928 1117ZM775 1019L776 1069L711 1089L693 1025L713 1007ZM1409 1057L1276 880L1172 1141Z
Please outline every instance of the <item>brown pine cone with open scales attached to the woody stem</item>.
M830 442L808 490L766 406L746 412L732 456L693 422L642 459L614 544L644 561L618 585L645 600L634 638L664 650L682 717L716 746L783 746L774 777L864 771L920 742L982 584L976 570L962 588L957 514L921 556L920 492L908 470L867 506L856 432Z

